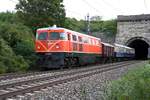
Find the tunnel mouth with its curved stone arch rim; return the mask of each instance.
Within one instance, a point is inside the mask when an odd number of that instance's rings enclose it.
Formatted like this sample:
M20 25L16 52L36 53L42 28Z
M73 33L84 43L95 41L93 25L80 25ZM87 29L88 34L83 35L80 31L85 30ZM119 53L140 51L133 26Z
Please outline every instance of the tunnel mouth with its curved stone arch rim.
M134 37L126 42L126 45L135 49L135 59L147 59L150 41L143 37Z

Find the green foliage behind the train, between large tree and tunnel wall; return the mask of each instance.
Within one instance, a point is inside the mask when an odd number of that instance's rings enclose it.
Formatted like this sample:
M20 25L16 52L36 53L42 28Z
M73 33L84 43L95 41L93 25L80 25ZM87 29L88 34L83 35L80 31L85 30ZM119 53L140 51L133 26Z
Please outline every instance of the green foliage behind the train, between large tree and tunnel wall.
M102 21L99 17L92 17L90 29L92 33L103 32L106 36L114 36L117 33L117 21L107 20ZM65 27L78 32L86 32L86 21L76 20L75 18L66 18Z

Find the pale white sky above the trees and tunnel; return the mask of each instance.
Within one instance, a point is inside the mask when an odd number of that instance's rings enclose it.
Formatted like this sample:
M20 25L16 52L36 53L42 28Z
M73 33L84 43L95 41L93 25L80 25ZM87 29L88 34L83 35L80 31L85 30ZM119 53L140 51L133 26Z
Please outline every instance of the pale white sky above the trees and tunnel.
M3 0L0 12L15 11L18 0ZM114 19L117 15L150 14L150 0L64 0L66 16L78 20L89 14L102 19Z

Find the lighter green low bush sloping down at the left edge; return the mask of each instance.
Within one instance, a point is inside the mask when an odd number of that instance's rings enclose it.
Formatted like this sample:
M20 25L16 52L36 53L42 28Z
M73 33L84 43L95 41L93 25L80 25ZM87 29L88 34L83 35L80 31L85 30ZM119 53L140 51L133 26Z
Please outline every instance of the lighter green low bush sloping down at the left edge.
M28 67L23 57L16 55L7 42L0 37L0 74L26 71Z

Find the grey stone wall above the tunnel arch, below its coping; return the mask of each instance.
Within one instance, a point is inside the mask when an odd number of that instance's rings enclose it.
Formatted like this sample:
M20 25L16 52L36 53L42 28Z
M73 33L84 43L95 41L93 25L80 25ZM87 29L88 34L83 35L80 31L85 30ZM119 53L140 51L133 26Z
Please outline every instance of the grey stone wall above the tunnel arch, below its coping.
M150 20L118 21L116 43L125 45L128 40L135 37L150 40Z

